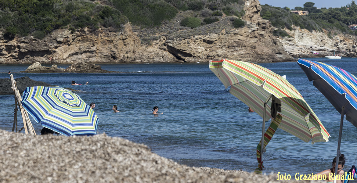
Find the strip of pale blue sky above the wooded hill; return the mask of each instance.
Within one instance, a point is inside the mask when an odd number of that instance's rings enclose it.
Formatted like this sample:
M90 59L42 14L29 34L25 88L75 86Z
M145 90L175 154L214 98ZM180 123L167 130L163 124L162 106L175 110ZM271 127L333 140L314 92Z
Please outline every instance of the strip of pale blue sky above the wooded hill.
M351 4L352 0L258 0L260 4L265 5L271 5L271 6L276 6L276 7L288 7L290 9L294 9L296 6L304 7L305 2L313 2L315 3L315 7L321 8L321 7L341 7L341 6L347 6L348 4ZM356 0L355 0L356 2Z

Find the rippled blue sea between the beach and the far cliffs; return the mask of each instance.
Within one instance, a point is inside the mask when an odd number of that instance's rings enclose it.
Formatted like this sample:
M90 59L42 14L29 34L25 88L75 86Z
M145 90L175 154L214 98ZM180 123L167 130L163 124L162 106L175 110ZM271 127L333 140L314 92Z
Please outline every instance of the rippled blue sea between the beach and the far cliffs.
M357 59L312 58L343 68L357 76ZM305 143L278 129L264 154L266 173L295 175L331 168L336 156L340 113L309 82L296 62L259 63L286 75L331 134L330 141ZM61 87L71 87L86 102L94 102L100 119L98 132L144 143L153 152L180 164L236 169L257 167L256 147L261 139L262 118L248 113L248 106L231 95L209 70L208 63L107 64L105 70L121 73L20 73L29 65L0 65L0 78L29 76ZM69 65L58 65L65 68ZM71 86L71 81L88 85ZM0 129L11 131L14 96L0 95ZM117 105L119 113L112 112ZM151 110L159 107L163 115ZM21 122L20 112L18 120ZM32 118L31 118L32 120ZM32 121L37 133L41 124ZM266 122L266 128L270 122ZM19 124L20 125L20 124ZM343 124L341 151L347 157L345 171L357 158L357 128ZM355 163L357 165L357 163Z

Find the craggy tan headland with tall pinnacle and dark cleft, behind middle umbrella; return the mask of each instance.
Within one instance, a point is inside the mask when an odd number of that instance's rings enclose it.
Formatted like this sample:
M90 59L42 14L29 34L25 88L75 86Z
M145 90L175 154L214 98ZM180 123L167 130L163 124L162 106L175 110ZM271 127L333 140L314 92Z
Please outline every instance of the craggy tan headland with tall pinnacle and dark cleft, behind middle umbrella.
M147 59L147 54L156 52L159 60L179 62L207 62L209 60L234 59L251 62L291 61L281 42L272 35L270 21L260 17L261 6L258 0L248 0L245 4L246 15L243 19L247 26L234 28L232 16L224 17L218 22L202 26L201 29L217 27L216 33L202 34L200 29L191 37L192 30L183 30L176 35L161 37L152 46L138 49L135 61ZM180 21L180 20L177 20ZM194 30L193 30L194 31ZM167 55L169 52L171 55ZM154 58L151 58L154 59Z

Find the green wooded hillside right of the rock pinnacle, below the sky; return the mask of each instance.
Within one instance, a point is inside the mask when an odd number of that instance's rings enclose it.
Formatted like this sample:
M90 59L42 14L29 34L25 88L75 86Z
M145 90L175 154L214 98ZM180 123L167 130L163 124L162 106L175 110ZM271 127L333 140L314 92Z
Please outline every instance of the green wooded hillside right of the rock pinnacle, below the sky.
M309 31L322 31L322 29L325 29L330 31L329 35L331 35L331 32L357 35L357 31L352 31L348 28L348 25L357 24L357 5L355 1L341 8L317 9L313 5L315 3L306 2L304 7L295 7L295 10L309 11L308 15L297 15L291 13L287 7L280 8L266 4L262 5L260 15L263 19L270 20L273 26L279 28L274 32L277 36L288 36L282 29L292 30L292 25Z

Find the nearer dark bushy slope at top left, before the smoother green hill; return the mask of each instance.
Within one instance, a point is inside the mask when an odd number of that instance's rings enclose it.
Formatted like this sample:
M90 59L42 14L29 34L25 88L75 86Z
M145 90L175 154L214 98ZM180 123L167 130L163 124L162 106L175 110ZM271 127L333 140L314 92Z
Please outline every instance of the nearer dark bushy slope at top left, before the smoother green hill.
M33 34L42 38L55 29L99 26L120 28L127 22L118 10L93 1L0 0L0 29L6 37Z

